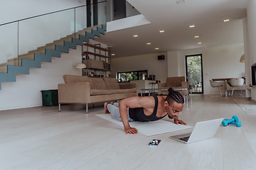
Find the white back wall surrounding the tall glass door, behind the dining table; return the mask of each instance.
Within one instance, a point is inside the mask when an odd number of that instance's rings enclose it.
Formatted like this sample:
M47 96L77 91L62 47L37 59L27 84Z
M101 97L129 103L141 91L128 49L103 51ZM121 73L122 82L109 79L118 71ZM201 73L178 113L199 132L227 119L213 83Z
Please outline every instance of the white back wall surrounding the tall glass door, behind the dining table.
M168 53L169 54L169 53ZM172 52L174 54L174 52ZM203 56L203 86L204 94L209 94L211 90L210 79L242 77L245 73L245 63L240 62L240 57L244 54L244 45L224 45L218 47L206 47L193 50L178 51L178 76L185 76L186 55L202 54ZM176 60L176 56L174 60ZM171 57L168 57L171 60ZM223 84L223 81L220 81ZM224 87L221 88L224 93ZM218 89L212 91L218 94Z

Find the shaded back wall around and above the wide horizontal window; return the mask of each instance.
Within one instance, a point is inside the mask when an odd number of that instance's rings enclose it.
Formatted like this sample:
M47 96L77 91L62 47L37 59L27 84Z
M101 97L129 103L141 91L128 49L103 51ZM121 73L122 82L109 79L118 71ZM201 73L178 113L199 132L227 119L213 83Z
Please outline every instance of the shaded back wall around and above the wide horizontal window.
M115 77L116 72L147 69L148 75L155 75L156 80L165 82L167 77L167 60L158 60L157 56L159 55L164 55L166 57L167 53L161 52L148 55L113 58L111 61L112 77Z

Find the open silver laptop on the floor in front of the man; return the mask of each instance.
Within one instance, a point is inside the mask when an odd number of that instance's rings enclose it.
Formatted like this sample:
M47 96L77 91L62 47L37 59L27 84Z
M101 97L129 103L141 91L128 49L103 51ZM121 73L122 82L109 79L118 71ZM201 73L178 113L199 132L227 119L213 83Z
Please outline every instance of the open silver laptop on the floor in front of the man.
M223 118L198 122L192 132L171 136L170 138L186 144L208 140L215 135L222 121Z

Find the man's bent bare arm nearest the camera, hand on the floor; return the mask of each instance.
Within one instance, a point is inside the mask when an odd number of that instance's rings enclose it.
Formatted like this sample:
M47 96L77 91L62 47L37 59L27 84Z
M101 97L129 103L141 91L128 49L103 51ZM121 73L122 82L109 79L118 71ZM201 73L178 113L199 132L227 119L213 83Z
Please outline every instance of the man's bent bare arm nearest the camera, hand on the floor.
M130 97L125 98L122 101L119 102L119 113L122 119L122 123L124 125L124 131L129 134L137 134L138 130L136 128L131 128L128 121L128 113L127 108L145 108L150 107L151 101L153 100L154 104L154 98L151 97Z

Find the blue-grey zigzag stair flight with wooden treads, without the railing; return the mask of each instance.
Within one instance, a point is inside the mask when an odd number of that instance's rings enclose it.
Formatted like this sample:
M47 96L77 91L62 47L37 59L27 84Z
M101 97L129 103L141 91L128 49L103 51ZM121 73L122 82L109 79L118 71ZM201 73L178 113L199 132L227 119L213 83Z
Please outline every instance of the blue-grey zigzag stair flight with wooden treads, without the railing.
M0 64L0 90L1 81L16 81L16 74L29 74L29 67L41 68L41 62L51 62L51 57L60 57L61 52L69 53L70 48L75 50L76 45L82 46L89 39L95 40L95 36L105 35L106 30L106 24L85 28Z

